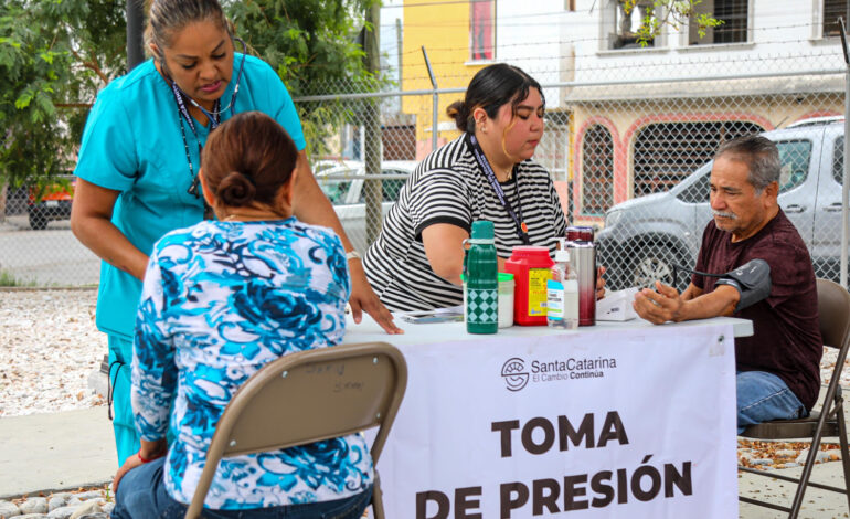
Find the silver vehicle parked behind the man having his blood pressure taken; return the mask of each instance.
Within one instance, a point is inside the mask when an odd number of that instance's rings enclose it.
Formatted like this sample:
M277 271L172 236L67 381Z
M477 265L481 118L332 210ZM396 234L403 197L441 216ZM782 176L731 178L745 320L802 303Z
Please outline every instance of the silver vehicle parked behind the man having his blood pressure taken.
M796 225L818 277L838 278L841 245L843 120L800 121L767 131L779 148L779 206ZM673 265L693 268L712 218L709 162L665 193L610 208L597 234L599 263L613 289L672 283ZM679 274L683 289L690 276Z

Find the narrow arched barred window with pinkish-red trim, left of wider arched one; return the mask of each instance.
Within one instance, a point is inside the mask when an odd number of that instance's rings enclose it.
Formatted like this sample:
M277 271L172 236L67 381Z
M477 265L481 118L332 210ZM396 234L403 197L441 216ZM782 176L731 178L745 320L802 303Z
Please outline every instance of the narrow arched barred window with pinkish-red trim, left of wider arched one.
M614 139L593 125L582 142L582 214L601 216L614 204Z

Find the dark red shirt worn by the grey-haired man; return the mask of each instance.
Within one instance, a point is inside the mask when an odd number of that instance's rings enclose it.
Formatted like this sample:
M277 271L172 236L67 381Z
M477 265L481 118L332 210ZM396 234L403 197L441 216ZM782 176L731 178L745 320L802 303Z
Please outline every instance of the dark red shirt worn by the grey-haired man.
M818 324L818 295L811 257L797 229L779 213L755 235L732 243L732 234L709 222L702 234L697 269L730 272L761 258L771 266L771 295L734 314L753 321L753 336L735 339L740 371L767 371L778 375L811 409L820 389L824 352ZM694 274L691 282L703 293L716 278Z

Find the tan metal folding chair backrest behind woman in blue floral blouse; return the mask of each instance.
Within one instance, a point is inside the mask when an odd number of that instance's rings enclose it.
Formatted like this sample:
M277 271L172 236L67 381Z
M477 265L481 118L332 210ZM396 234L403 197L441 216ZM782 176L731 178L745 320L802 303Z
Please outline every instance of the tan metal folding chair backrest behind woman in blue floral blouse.
M222 457L275 451L380 426L378 463L407 386L407 364L386 342L300 351L254 373L215 427L187 517L198 517Z

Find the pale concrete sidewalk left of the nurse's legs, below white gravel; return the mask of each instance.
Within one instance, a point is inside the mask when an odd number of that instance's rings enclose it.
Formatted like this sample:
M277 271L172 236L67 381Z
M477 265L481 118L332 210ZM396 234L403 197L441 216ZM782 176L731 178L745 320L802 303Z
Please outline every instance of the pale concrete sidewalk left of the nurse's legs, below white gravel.
M0 417L0 499L100 485L117 466L106 407Z

